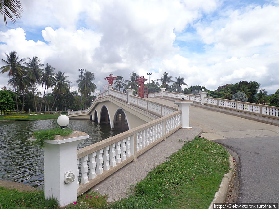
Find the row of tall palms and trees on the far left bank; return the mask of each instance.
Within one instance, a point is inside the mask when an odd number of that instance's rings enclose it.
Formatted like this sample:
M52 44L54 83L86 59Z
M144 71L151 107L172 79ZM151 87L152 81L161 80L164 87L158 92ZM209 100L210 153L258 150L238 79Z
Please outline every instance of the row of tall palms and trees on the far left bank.
M49 63L46 65L40 63L41 60L36 56L19 59L15 51L11 51L9 54L5 53L5 55L6 60L0 58L5 64L0 68L0 73L8 73L8 84L13 86L15 93L16 112L19 111L19 104L20 113L24 110L27 112L30 109L37 114L37 110L40 113L43 104L46 106L46 103L48 111L49 106L51 105L50 111L52 111L55 104L62 111L64 108L80 109L83 105L86 108L88 100L91 101L92 97L89 97L89 95L96 89L96 85L92 82L95 80L94 73L85 70L83 75L79 75L77 80L78 90L84 97L84 102L81 103L79 102L78 92L70 92L68 76L64 72L55 72L54 67ZM38 85L44 87L43 94L38 92ZM46 94L46 90L52 87L52 93ZM41 105L39 105L41 95ZM0 108L2 110L4 106Z

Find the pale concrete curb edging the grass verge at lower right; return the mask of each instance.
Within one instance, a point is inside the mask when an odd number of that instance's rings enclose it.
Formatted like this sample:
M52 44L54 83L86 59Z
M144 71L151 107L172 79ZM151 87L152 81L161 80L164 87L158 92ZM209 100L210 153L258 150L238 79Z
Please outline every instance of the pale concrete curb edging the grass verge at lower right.
M219 190L215 193L215 196L209 206L209 209L212 209L214 203L224 203L232 179L233 157L231 154L230 154L229 162L230 162L230 171L224 175Z

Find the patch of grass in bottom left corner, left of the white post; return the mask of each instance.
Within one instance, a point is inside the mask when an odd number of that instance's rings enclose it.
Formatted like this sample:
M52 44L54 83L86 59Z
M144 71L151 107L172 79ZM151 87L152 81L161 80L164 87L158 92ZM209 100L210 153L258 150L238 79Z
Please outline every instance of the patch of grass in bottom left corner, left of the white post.
M55 199L45 200L42 190L19 192L4 187L0 187L0 204L2 209L59 208Z

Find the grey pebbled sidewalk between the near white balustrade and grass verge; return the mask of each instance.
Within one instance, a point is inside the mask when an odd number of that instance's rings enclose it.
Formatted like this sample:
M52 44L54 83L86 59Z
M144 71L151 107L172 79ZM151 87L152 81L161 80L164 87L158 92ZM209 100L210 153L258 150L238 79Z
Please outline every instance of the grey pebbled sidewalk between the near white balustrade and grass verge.
M179 139L190 141L201 133L202 129L196 126L192 126L192 129L179 129L167 137L166 141L160 142L140 155L135 162L127 164L104 181L92 187L91 190L108 194L108 201L125 198L132 185L142 180L150 170L168 160L172 153L184 145L184 142L179 142Z

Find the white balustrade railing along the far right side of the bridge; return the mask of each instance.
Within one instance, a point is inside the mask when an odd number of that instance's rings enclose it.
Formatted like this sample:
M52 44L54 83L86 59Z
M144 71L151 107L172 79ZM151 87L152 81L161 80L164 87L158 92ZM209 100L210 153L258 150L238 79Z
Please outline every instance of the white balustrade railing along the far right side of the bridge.
M229 110L235 110L238 112L245 112L248 114L259 115L262 117L279 119L279 107L274 107L269 105L261 105L261 104L255 104L250 102L240 102L240 101L213 98L213 97L202 98L201 96L198 95L182 94L182 93L167 92L167 91L151 93L148 94L148 97L157 97L162 95L164 97L176 98L176 99L181 99L181 96L185 95L186 100L192 100L193 102L200 103L201 100L203 99L203 104L205 105L229 109Z

